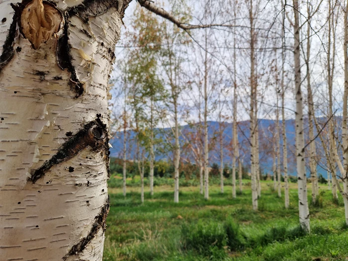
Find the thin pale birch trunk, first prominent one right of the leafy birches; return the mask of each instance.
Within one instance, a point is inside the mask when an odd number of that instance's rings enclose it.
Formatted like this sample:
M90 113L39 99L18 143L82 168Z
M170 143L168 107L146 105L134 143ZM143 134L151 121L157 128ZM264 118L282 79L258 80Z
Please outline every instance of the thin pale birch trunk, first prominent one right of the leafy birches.
M207 34L205 33L205 50L207 48ZM208 92L207 92L207 85L208 85L208 65L207 65L207 59L208 59L208 52L205 52L205 58L204 58L204 198L209 199L209 172L208 172L208 123L207 123L207 116L208 116Z

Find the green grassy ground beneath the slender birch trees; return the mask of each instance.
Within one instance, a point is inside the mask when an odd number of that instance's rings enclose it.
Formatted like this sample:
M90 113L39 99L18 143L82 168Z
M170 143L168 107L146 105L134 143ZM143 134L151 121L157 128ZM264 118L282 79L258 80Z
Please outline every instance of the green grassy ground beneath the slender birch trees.
M237 199L231 186L224 194L211 186L208 201L199 187L182 187L178 204L171 186L155 187L152 197L146 190L144 204L138 187L128 188L126 198L122 189L110 188L103 261L348 260L342 198L334 203L327 185L321 185L318 206L310 206L311 234L305 235L298 226L296 184L285 209L271 181L262 181L254 212L249 182Z

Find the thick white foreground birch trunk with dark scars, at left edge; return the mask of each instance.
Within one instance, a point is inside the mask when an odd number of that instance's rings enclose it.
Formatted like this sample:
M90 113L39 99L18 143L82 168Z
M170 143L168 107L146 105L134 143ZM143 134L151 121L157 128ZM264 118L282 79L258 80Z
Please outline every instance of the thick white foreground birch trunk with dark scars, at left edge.
M102 260L124 9L95 2L0 2L1 260Z

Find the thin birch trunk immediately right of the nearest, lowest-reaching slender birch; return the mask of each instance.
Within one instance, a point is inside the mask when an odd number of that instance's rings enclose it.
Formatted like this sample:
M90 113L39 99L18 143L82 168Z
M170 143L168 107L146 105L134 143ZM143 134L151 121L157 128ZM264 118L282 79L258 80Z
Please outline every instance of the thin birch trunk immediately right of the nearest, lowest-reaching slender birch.
M310 5L307 1L307 13L310 16ZM312 181L312 203L317 201L318 196L318 177L317 177L317 164L315 161L316 146L314 141L314 130L313 130L313 117L314 115L314 102L311 88L311 72L309 68L310 52L311 52L311 18L307 21L307 52L306 52L306 69L307 69L307 95L308 95L308 124L309 124L309 140L312 141L309 144L309 169L311 172Z

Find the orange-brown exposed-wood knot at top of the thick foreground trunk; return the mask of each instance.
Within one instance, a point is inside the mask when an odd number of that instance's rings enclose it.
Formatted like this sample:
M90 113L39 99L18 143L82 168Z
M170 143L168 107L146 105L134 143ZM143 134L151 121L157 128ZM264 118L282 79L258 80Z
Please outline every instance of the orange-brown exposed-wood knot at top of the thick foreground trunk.
M51 3L32 0L22 10L21 31L34 49L54 36L63 21L61 12Z

